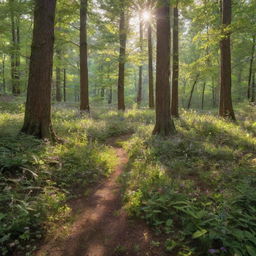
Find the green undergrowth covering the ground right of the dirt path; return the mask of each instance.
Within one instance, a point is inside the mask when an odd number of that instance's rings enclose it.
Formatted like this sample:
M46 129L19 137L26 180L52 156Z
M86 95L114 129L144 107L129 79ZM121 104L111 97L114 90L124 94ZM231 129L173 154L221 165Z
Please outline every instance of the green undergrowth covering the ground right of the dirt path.
M239 113L235 124L183 111L178 135L151 137L144 122L125 143L126 208L165 233L173 255L255 254L255 109Z

